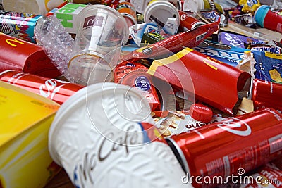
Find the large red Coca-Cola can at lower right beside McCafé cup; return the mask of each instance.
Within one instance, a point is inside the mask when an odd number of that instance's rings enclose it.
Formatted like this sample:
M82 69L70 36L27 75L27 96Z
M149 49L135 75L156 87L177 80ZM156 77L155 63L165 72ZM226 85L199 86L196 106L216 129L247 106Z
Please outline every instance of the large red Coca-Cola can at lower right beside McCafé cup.
M282 116L265 108L172 136L167 142L194 177L190 180L194 187L212 187L281 158Z

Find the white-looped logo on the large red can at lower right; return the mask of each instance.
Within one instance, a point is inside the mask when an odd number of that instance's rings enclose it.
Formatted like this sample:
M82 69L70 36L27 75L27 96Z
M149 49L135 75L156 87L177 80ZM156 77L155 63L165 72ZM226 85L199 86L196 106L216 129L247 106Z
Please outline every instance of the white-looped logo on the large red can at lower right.
M221 123L217 124L217 126L223 130L237 134L239 136L245 137L252 133L250 125L247 125L247 123L245 123L243 120L239 120L237 118L224 120Z

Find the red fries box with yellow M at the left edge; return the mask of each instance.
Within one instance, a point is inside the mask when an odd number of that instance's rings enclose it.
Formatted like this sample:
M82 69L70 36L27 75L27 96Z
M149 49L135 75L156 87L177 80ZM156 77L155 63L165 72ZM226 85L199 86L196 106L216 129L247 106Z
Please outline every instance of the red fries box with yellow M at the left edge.
M0 32L0 72L19 70L42 77L59 77L61 73L51 63L42 46ZM3 56L2 54L5 54Z

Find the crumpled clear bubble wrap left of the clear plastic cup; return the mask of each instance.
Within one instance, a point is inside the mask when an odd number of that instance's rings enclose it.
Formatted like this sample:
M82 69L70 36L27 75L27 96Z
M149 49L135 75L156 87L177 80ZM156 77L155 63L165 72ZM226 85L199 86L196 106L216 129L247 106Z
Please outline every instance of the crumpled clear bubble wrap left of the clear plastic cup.
M73 82L68 73L68 62L71 59L74 39L61 22L54 15L40 18L35 26L35 39L39 46L44 47L45 53L60 73Z

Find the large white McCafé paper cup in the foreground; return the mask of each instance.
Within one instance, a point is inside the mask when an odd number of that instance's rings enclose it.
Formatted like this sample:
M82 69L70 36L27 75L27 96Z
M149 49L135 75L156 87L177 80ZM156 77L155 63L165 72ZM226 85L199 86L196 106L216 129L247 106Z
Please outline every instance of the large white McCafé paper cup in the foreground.
M146 99L128 86L80 89L56 113L51 157L76 187L188 187L176 156L156 127L144 123L154 122L149 113Z

